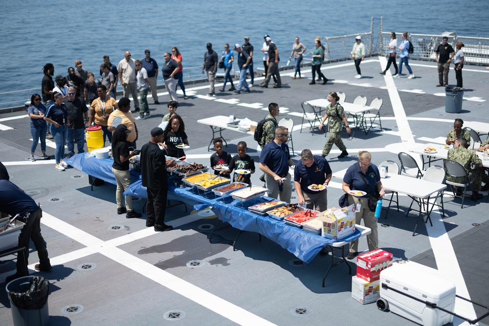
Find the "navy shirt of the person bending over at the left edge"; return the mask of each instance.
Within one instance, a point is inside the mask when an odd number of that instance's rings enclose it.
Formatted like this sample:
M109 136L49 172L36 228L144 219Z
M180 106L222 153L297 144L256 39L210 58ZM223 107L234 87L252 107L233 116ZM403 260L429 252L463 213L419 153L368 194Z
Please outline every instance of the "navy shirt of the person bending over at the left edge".
M34 199L8 180L0 180L0 212L25 215L39 209Z

